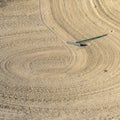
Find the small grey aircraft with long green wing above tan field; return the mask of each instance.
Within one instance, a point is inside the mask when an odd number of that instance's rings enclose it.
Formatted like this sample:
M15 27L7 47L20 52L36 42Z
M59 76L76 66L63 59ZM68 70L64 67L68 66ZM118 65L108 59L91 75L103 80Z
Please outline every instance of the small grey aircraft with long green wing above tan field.
M101 38L101 37L105 37L107 35L108 34L104 34L104 35L100 35L100 36L97 36L97 37L80 40L80 41L77 41L77 42L67 41L67 43L71 44L71 45L75 45L75 46L87 46L87 44L84 44L84 42L95 40L95 39L98 39L98 38Z

